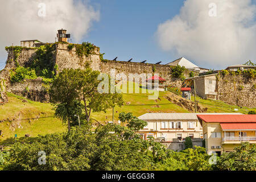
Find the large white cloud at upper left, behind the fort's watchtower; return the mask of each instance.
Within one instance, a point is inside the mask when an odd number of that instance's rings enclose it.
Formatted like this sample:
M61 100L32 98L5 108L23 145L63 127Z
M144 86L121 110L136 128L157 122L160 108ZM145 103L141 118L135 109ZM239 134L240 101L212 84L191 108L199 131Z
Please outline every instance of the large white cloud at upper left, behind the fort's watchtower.
M46 5L46 16L39 16L39 3ZM100 13L81 0L11 0L0 5L0 60L6 59L5 46L20 40L39 39L55 42L57 30L64 28L73 42L88 33Z

